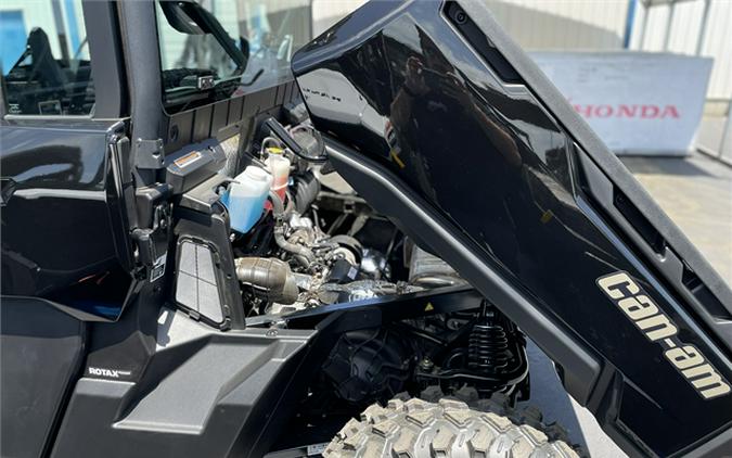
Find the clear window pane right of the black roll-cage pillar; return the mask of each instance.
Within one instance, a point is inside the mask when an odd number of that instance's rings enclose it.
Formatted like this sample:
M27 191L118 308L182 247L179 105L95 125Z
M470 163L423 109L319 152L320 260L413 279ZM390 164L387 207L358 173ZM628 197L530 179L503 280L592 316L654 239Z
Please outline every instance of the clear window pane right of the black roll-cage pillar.
M165 105L178 112L290 79L308 0L157 2Z

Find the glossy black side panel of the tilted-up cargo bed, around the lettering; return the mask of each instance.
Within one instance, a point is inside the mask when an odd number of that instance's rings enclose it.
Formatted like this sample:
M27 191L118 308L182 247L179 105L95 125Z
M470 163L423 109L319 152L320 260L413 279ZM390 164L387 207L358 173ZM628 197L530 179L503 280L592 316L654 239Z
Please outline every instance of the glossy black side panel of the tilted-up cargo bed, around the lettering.
M732 397L702 398L596 279L629 272L728 381L729 354L581 189L582 145L449 8L370 2L300 50L293 69L316 127L388 168L599 355L614 376L593 408L635 453L669 456L719 433Z

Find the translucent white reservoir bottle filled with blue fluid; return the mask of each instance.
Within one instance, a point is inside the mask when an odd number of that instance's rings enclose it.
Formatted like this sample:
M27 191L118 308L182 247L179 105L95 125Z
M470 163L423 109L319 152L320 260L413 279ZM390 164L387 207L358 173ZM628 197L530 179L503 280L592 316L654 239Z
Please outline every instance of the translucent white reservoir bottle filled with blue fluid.
M233 230L245 233L254 227L261 216L271 186L272 176L253 165L234 178L222 199L229 208L229 220Z

